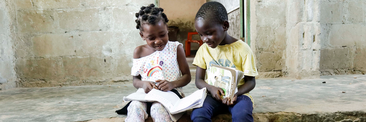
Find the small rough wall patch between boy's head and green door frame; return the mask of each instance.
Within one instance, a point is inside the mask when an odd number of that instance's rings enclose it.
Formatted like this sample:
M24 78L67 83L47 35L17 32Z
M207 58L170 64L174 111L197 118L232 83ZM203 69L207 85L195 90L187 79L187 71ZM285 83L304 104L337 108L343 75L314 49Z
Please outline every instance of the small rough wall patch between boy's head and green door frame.
M240 9L236 9L228 14L229 30L228 34L240 40Z

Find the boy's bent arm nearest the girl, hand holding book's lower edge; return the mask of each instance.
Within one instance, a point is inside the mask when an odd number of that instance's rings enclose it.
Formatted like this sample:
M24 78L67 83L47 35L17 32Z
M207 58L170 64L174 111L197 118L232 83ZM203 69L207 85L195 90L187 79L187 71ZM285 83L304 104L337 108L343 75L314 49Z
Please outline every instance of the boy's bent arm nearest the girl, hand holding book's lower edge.
M211 94L211 96L216 99L217 101L221 101L221 95L225 95L224 94L224 90L219 88L219 87L215 87L213 85L209 85L205 82L205 74L206 74L206 69L202 69L201 67L197 66L196 69L196 86L198 89L202 89L202 88L207 88L207 91ZM220 95L221 94L221 95Z

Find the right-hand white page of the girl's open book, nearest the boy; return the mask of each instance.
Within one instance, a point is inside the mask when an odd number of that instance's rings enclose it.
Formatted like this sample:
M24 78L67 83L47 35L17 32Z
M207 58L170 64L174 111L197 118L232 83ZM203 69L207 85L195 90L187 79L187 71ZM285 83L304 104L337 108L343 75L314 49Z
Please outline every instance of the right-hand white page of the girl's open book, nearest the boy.
M204 92L206 92L206 88L199 89L193 92L191 95L178 100L178 102L174 105L175 108L171 112L180 111L201 100Z

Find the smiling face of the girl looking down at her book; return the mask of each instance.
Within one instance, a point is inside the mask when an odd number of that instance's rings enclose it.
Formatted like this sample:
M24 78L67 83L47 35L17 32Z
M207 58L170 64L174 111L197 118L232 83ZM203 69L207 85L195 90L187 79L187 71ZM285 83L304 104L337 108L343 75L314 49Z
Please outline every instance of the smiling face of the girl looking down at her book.
M163 21L156 23L155 25L144 24L142 26L140 36L142 40L147 42L149 47L162 51L165 45L168 43L168 25Z

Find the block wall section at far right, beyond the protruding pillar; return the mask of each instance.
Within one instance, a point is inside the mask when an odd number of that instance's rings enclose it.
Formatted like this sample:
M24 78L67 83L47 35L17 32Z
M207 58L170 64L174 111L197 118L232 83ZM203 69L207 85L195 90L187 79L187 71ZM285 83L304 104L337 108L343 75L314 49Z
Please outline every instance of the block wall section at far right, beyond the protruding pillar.
M321 75L366 71L366 1L322 0Z

